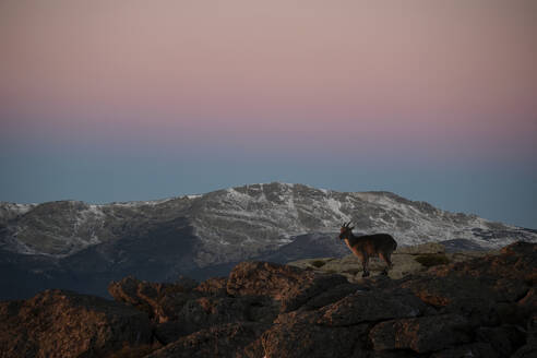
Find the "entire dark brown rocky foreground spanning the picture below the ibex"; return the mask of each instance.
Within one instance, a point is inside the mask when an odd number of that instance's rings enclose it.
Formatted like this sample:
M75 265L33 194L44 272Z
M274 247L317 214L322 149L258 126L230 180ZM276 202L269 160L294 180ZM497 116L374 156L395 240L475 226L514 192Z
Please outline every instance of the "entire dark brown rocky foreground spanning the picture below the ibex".
M127 277L116 301L45 291L0 303L0 357L537 356L537 244L451 261L360 282L242 262L201 284Z

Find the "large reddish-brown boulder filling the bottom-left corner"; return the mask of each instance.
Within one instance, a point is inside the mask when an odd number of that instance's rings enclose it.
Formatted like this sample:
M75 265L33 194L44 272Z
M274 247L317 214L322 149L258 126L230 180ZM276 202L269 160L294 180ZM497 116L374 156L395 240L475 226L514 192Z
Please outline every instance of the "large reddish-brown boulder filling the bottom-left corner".
M103 357L151 342L147 314L122 303L46 290L0 303L0 357Z

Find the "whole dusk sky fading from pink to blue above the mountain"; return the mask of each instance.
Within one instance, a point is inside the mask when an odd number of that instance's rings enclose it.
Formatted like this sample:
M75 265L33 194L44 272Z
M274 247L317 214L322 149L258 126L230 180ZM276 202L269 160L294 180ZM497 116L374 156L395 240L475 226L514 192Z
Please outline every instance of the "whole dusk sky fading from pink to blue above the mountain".
M0 201L255 182L537 228L533 0L1 0Z

